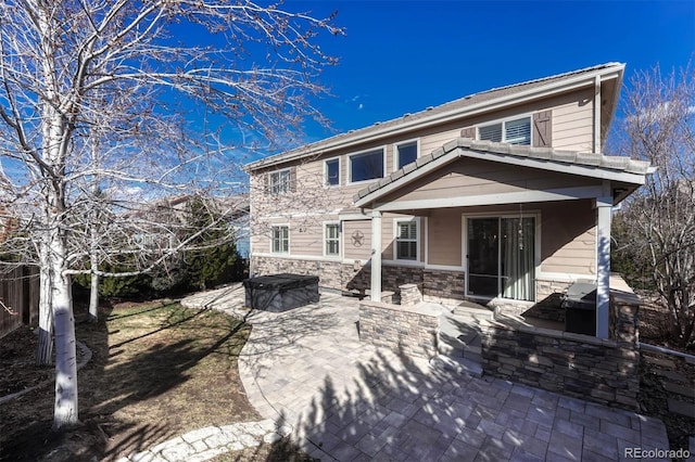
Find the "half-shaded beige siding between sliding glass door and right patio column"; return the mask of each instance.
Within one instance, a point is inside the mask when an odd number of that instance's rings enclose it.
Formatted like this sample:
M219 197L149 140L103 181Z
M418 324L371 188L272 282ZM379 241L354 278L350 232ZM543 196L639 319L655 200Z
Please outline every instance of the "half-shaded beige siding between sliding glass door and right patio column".
M543 205L541 272L596 274L596 210L592 201Z

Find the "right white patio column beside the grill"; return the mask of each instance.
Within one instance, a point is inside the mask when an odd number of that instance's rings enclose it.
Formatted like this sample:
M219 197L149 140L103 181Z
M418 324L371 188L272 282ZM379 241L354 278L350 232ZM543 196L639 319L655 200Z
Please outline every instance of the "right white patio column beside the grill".
M612 197L596 197L596 337L608 338L610 316L610 209Z

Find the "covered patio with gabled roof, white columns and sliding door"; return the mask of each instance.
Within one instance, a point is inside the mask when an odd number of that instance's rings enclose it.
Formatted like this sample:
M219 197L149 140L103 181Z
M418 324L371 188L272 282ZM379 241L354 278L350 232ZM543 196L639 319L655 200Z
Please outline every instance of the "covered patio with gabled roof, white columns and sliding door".
M595 336L607 339L611 207L649 171L624 157L448 142L354 197L370 210L371 300L381 300L382 217L396 214L418 220L425 244L418 261L401 264L459 273L462 299L531 307L578 280L595 284ZM393 245L407 244L399 233Z

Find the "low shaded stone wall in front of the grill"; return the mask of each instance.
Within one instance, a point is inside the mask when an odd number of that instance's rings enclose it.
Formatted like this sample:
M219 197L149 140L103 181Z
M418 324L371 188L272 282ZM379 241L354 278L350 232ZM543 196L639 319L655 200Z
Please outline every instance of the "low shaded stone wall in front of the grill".
M482 326L486 374L607 406L639 409L637 307L614 297L610 339L540 329L495 313Z

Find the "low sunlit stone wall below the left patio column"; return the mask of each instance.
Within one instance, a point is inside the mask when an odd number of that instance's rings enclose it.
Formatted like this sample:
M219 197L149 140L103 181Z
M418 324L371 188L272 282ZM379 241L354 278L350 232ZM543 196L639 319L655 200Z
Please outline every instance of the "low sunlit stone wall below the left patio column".
M438 315L414 306L368 299L359 303L359 339L407 357L434 357L438 328Z

